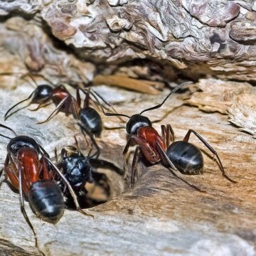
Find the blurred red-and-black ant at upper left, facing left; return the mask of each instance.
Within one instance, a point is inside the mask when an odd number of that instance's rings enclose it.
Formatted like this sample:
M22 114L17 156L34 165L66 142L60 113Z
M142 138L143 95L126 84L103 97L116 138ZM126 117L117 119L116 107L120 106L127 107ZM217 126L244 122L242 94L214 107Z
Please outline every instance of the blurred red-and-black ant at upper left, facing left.
M31 76L33 79L33 77ZM36 80L33 79L33 82L36 83ZM81 97L80 97L80 91L82 91L85 95L85 100L83 103L83 106L81 107ZM90 97L92 95L92 97ZM78 124L81 128L82 134L85 133L90 137L92 144L94 144L96 148L96 152L94 156L98 157L100 154L100 147L97 145L97 142L95 141L95 137L99 137L102 132L102 118L100 117L100 114L92 107L89 107L90 100L94 102L96 105L99 105L101 110L104 112L104 108L102 104L100 103L100 100L105 102L106 105L109 107L112 107L106 100L103 99L102 96L97 94L97 92L93 92L90 90L82 89L81 87L76 87L76 99L73 97L73 95L68 92L68 90L63 85L59 85L58 87L51 87L50 85L37 85L36 89L31 93L31 95L28 96L25 100L21 100L21 102L16 103L14 106L12 106L4 115L5 120L8 119L12 114L18 112L19 110L16 110L15 112L11 112L11 110L14 109L14 107L20 105L23 102L26 102L27 100L31 100L29 104L26 106L36 103L38 104L38 107L35 110L38 110L41 107L46 107L50 100L53 101L53 103L56 105L56 109L50 114L50 116L42 121L38 122L38 124L43 124L45 122L48 122L51 118L55 116L55 114L58 114L58 112L64 112L66 116L69 114L73 114L73 117L78 120ZM33 110L33 111L35 111ZM115 112L114 108L112 107L112 110Z

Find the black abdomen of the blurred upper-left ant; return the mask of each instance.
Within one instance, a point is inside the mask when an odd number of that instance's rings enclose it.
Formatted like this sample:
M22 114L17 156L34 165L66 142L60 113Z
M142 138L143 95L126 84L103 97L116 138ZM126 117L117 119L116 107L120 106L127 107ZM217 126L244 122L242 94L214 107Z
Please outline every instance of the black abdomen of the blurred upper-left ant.
M100 114L92 109L91 107L86 107L80 110L79 118L85 127L95 134L95 136L100 136L102 132L102 119Z

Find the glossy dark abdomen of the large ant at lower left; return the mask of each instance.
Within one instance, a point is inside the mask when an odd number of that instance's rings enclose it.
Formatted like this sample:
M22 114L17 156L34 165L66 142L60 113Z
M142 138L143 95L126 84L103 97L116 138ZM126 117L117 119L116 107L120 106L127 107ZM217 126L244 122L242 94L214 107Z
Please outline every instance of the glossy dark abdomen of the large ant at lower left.
M63 193L54 181L33 183L28 191L28 201L36 215L49 223L57 223L63 215Z

